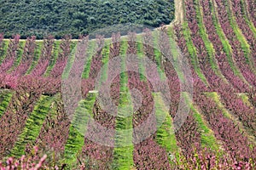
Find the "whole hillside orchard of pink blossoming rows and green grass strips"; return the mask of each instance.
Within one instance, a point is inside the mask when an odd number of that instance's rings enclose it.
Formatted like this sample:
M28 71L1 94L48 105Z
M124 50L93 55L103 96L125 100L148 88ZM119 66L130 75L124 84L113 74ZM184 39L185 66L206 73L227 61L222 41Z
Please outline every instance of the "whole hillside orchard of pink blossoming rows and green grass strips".
M255 169L255 2L175 6L171 26L139 35L0 35L0 167Z

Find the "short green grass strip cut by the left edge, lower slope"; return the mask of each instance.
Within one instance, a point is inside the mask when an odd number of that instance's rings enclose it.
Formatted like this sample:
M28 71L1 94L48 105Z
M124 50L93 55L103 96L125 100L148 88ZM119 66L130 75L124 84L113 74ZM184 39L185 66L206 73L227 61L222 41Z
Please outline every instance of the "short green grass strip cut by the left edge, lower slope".
M12 93L9 90L1 90L0 91L0 117L6 111L9 106L9 101L12 98Z

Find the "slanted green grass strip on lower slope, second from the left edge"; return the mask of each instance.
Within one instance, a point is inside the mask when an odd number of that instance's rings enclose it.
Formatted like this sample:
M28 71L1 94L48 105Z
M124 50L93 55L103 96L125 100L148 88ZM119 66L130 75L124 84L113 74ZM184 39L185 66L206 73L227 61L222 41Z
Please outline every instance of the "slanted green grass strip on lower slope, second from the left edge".
M14 148L11 150L10 156L22 156L25 154L26 144L34 142L38 138L38 134L43 126L45 117L48 115L50 105L55 97L42 95L35 105L34 110L26 120L26 127L18 137Z

